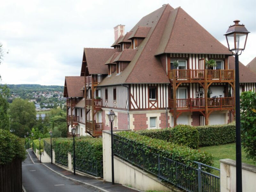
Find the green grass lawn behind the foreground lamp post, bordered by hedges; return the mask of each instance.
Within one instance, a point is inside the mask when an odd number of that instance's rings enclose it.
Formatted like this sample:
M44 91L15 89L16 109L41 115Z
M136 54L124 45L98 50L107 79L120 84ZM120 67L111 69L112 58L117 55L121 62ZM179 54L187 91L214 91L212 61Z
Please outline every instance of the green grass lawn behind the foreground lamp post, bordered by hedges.
M213 156L213 167L220 169L220 159L233 159L236 160L236 143L230 143L226 145L210 146L210 147L201 147L201 151L208 152ZM247 160L245 157L244 149L242 148L242 162L246 164L251 164L256 166L253 161ZM213 172L213 174L218 172Z

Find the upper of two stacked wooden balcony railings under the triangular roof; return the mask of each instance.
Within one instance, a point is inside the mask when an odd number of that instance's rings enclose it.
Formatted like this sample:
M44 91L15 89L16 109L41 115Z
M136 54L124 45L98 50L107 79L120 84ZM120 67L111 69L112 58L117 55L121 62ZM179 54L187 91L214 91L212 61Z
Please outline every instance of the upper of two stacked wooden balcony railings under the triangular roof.
M210 82L233 82L234 70L221 69L173 69L168 71L170 81L196 83L204 82L205 78Z

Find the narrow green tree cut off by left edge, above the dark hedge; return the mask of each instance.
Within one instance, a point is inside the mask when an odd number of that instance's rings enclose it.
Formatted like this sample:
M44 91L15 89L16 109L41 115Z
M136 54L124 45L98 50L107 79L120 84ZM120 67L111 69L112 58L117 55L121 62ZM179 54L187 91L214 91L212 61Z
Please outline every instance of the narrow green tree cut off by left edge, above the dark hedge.
M0 47L1 48L1 47ZM10 120L7 114L9 103L7 97L10 95L10 89L4 85L0 85L0 129L9 130Z

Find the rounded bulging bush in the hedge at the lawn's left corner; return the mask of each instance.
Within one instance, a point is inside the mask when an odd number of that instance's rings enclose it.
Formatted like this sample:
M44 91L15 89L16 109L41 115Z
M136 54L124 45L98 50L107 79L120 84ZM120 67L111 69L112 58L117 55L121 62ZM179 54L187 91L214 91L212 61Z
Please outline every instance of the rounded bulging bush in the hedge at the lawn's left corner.
M199 144L198 131L196 127L190 125L177 125L171 129L170 142L197 149Z

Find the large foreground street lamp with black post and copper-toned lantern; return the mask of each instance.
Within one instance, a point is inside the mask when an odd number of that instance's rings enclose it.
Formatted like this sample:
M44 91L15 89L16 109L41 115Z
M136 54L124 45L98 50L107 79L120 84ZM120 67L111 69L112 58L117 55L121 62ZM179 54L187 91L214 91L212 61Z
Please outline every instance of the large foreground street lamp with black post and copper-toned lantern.
M241 121L240 121L240 91L239 91L239 60L245 49L249 31L244 25L239 24L239 20L234 20L234 25L229 26L226 32L228 49L235 55L235 96L236 96L236 191L242 192L242 157L241 157Z

